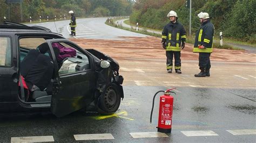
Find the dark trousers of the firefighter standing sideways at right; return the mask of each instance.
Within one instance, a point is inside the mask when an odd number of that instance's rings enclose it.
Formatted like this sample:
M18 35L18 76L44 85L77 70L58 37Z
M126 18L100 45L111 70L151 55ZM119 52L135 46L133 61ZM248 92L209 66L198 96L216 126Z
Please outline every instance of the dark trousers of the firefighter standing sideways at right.
M211 53L199 53L199 69L210 70L211 68L210 55Z

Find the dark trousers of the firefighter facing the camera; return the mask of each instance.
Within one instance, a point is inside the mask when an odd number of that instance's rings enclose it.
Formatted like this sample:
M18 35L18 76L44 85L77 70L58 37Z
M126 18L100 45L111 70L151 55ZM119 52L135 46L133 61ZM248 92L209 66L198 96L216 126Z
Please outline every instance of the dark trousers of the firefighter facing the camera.
M166 51L166 69L172 69L172 59L174 55L174 68L181 68L180 51Z

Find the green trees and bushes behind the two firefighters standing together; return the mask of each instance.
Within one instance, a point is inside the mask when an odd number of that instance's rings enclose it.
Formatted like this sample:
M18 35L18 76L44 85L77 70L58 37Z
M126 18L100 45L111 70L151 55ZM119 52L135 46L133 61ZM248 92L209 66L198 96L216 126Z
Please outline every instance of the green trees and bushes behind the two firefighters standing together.
M169 11L177 12L178 21L189 30L189 3L186 0L137 0L130 16L131 23L161 30L170 22L166 17ZM220 31L225 37L240 39L255 44L256 39L255 0L193 0L192 33L200 26L198 13L209 13L215 26L215 36Z

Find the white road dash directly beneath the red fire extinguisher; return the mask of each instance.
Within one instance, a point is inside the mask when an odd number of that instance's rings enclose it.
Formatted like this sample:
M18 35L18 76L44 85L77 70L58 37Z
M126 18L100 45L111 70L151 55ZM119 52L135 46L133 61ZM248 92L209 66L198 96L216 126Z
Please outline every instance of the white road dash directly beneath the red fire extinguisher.
M159 137L168 138L167 134L160 133L160 132L135 132L130 134L132 138L159 138Z

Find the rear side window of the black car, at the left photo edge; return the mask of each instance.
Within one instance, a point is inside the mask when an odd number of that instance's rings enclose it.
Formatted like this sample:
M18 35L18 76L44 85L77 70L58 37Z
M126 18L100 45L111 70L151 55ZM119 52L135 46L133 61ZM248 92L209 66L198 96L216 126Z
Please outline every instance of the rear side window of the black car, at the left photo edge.
M11 39L0 37L0 67L11 67Z

